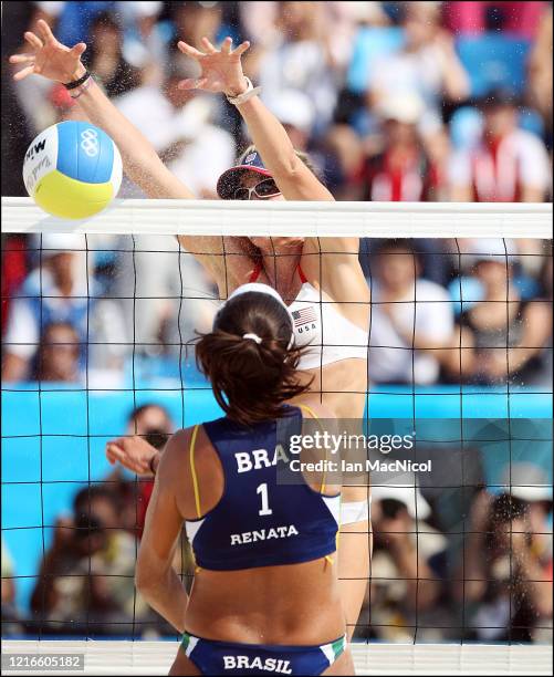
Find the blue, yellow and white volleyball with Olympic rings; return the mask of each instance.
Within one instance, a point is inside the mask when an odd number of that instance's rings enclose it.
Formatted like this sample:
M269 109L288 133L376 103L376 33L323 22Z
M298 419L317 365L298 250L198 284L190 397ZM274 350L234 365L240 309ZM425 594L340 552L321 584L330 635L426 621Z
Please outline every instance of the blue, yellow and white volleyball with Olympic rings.
M117 195L122 157L98 127L62 122L41 132L27 149L23 181L44 211L62 219L85 219Z

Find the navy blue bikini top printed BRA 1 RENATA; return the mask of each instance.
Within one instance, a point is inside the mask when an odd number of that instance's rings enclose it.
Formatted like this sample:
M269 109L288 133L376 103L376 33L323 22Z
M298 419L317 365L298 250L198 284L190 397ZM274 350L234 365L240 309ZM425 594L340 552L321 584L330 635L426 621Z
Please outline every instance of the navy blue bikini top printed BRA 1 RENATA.
M302 431L301 409L286 406L284 410L283 418L252 427L226 417L202 424L221 461L224 487L215 508L186 523L199 567L230 571L297 564L335 552L339 494L315 491L301 472L294 473L296 483L283 481L282 473L292 472L290 437ZM197 433L198 426L192 431L190 456L201 515L194 470Z

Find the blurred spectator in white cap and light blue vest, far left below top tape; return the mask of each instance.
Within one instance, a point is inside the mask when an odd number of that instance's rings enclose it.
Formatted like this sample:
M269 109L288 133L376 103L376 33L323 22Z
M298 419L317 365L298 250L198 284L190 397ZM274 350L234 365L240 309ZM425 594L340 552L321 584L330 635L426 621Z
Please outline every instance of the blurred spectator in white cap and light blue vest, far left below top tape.
M53 323L75 330L82 368L121 368L125 327L115 305L97 295L95 281L87 274L83 236L44 233L41 238L42 265L28 275L10 309L2 378L14 382L31 375L41 336ZM93 341L98 345L88 350Z

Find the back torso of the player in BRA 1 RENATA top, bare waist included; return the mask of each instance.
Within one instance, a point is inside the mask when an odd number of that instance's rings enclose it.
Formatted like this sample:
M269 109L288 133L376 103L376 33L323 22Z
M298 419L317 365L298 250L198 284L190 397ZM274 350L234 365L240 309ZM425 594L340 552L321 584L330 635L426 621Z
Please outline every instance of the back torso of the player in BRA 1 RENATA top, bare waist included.
M301 473L288 476L288 440L302 430L301 410L289 407L286 417L248 428L228 418L202 428L192 464L206 448L215 451L222 487L211 509L187 521L197 563L187 629L263 644L336 637L344 624L333 563L339 497L322 494ZM203 479L199 473L200 491Z

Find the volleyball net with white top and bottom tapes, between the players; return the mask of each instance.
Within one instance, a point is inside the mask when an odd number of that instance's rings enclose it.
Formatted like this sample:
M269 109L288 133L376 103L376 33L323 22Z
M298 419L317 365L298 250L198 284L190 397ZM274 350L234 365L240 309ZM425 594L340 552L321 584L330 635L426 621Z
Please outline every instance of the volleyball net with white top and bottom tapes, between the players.
M220 293L175 236L237 238L226 270L251 238L315 238L323 261L342 236L360 238L372 292L367 431L412 436L395 458L424 466L372 475L356 669L550 674L551 220L550 205L116 200L69 222L2 198L3 650L167 671L178 637L134 586L151 481L104 449L220 415L188 345ZM190 587L185 538L175 566Z

